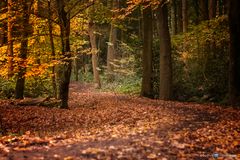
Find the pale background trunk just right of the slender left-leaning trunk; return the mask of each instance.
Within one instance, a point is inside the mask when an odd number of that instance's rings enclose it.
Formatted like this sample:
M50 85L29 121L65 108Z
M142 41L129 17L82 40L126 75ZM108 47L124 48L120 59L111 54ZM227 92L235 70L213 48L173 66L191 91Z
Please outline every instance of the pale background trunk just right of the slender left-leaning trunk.
M118 6L118 0L112 1L112 9L117 9ZM114 14L113 14L114 16ZM114 26L114 21L111 23L110 32L109 32L109 42L108 42L108 49L107 49L107 74L108 74L108 80L113 81L114 80L114 59L116 56L116 42L117 42L117 28Z

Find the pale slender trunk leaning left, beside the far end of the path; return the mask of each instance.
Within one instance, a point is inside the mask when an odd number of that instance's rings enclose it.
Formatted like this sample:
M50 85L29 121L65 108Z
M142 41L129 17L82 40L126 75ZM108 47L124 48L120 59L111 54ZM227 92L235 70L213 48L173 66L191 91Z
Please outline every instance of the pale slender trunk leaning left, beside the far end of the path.
M88 34L90 38L90 43L92 47L92 68L93 68L93 77L94 83L96 84L97 88L101 88L100 76L98 71L98 49L96 44L96 35L95 31L95 24L93 22L89 23Z

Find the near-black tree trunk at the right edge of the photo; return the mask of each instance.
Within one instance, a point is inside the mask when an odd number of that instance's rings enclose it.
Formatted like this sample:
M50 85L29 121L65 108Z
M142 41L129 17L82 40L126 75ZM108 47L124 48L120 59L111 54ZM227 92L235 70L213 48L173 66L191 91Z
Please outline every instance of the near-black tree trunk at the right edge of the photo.
M229 103L240 103L240 1L229 0L230 58L229 58Z

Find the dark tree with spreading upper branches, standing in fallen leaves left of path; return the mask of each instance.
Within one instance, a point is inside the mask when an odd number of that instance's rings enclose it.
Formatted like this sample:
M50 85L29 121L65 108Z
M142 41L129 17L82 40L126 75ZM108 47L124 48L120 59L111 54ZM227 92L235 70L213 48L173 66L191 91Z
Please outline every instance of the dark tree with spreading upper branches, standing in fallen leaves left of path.
M39 1L38 1L39 2ZM72 70L72 55L70 50L70 20L83 10L94 4L94 1L68 1L54 0L49 16L47 1L41 1L38 4L37 16L43 19L51 20L60 26L61 53L59 53L58 64L55 67L56 72L56 96L60 100L60 108L68 108L69 83ZM53 45L53 44L52 44ZM53 54L53 53L52 53Z

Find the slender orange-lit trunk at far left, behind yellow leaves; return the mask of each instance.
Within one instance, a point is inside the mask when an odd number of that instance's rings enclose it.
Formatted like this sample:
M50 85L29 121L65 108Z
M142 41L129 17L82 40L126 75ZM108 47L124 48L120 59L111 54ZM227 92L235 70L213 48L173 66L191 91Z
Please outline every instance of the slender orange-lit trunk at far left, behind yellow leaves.
M13 15L12 15L12 0L8 0L8 78L13 76Z

